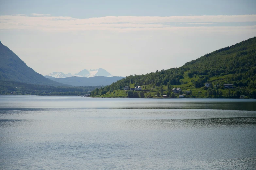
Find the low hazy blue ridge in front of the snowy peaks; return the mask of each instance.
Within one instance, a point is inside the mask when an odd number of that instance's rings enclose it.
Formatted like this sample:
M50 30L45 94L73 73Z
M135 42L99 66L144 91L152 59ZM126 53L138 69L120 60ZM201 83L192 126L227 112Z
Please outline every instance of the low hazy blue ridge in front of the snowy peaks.
M55 78L54 81L59 83L69 84L72 86L105 86L110 85L117 80L121 80L124 77L113 76L113 77L104 77L104 76L95 76L95 77L67 77L67 78Z

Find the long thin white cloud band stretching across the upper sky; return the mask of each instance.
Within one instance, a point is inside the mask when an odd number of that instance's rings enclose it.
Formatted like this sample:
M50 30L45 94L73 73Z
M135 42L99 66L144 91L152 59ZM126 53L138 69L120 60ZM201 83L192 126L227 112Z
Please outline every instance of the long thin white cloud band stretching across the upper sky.
M210 25L215 22L256 22L256 15L203 15L203 16L106 16L77 19L49 14L3 15L0 29L76 31L76 30L118 30L170 29L168 23Z

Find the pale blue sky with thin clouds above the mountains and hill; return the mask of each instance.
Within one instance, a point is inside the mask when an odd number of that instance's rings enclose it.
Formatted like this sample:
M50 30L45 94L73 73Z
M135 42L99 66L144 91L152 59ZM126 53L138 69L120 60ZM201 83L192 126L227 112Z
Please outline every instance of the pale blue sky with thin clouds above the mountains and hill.
M255 0L0 0L0 40L42 75L146 74L256 36L255 7Z

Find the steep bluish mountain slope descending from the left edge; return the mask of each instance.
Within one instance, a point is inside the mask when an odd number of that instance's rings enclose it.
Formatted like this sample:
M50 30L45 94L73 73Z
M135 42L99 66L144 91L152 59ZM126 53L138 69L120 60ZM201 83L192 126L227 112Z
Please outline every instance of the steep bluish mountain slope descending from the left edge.
M52 81L28 67L16 54L0 41L0 80L28 84L68 86Z

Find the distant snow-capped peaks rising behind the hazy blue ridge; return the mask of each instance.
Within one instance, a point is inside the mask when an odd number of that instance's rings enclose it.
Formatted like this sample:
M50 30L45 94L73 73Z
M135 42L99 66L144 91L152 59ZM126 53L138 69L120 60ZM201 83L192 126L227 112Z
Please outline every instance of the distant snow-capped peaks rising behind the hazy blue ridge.
M65 77L72 77L72 76L77 76L77 77L94 77L94 76L105 76L105 77L113 77L113 75L111 75L109 72L107 72L106 70L104 70L103 68L99 68L99 69L94 69L94 70L82 70L79 73L67 73L64 74L63 72L52 72L50 74L48 74L48 76L52 76L55 78L65 78Z

